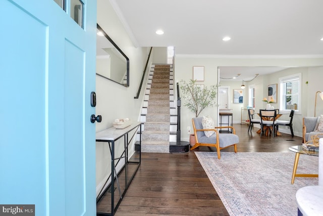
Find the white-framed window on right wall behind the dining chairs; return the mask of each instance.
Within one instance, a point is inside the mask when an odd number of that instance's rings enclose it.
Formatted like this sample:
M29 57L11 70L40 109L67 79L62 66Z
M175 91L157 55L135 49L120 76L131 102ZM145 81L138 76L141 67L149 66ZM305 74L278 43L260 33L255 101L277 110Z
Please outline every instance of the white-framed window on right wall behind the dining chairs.
M280 82L280 110L300 111L301 74L281 77Z

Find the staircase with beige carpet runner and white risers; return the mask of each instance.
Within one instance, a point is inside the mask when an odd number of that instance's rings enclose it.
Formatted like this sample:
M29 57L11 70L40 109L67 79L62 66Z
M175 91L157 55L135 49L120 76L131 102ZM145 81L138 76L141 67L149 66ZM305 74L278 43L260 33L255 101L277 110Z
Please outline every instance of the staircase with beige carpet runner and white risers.
M176 142L177 109L172 65L152 65L141 112L142 152L188 152L189 143ZM136 145L138 150L139 145Z

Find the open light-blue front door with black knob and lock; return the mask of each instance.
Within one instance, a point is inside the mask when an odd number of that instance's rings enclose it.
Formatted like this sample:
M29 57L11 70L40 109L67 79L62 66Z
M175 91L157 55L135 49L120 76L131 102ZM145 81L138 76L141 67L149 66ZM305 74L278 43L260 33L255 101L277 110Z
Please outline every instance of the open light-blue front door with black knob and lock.
M0 205L95 215L96 1L62 7L0 1Z

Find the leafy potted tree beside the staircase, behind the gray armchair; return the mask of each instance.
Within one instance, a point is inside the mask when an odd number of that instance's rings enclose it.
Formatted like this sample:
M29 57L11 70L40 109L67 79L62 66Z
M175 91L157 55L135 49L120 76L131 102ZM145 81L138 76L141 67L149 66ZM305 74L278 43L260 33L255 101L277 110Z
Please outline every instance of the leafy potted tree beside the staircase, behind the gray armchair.
M184 106L198 117L199 114L209 106L217 103L218 85L211 85L210 88L196 84L196 80L190 79L188 82L181 80L179 82L182 90L182 98L184 99ZM190 144L194 146L194 134L190 135Z

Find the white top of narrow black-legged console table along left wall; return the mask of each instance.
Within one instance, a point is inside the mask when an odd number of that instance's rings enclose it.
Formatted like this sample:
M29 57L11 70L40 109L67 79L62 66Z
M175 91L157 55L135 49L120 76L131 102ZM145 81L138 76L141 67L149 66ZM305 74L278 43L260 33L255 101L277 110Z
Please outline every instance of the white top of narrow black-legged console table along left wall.
M129 126L123 129L117 129L115 127L107 128L104 131L100 131L96 133L95 140L96 141L116 141L117 139L129 133L132 129L136 128L140 124L141 122L132 122L132 124L130 124Z

